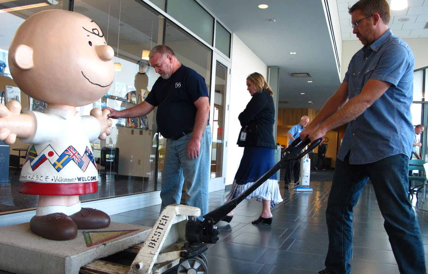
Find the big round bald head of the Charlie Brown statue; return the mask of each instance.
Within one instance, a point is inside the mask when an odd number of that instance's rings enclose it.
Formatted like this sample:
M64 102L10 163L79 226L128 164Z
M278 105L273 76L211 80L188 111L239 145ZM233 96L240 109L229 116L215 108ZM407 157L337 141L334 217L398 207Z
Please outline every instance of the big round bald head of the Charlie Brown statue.
M30 57L15 50L20 45L32 49ZM48 104L87 105L113 83L113 48L94 21L76 12L47 10L30 16L19 27L9 52L18 87ZM14 58L31 58L33 65L23 69Z

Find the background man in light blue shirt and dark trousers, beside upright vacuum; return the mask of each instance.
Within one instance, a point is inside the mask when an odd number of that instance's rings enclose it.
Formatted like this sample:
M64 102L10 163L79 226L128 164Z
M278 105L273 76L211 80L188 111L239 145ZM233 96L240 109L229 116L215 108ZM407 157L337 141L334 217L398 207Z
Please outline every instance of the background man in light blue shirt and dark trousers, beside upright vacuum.
M291 145L291 143L299 137L300 132L305 129L305 126L307 126L309 123L309 117L306 115L303 115L300 118L300 123L297 125L294 125L291 127L290 130L287 132L287 137L289 139L288 145ZM299 185L300 180L300 159L297 160L289 160L285 162L285 175L284 175L284 187L288 188L288 185L291 183L291 172L293 172L294 175L294 184Z

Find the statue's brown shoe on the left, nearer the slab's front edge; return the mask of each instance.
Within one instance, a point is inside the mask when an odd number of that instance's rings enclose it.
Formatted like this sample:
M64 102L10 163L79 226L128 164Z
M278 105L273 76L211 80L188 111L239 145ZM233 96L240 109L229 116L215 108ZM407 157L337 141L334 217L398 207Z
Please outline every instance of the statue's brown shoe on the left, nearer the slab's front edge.
M30 229L36 235L55 241L71 240L77 236L76 223L63 213L33 216Z

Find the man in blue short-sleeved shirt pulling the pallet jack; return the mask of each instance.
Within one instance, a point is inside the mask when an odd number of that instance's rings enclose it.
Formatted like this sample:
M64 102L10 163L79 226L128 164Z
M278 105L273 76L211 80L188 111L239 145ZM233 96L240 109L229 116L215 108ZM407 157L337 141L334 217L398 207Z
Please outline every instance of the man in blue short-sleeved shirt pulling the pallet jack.
M364 46L352 57L339 89L300 133L314 141L348 123L327 203L329 246L319 273L351 273L353 208L370 179L400 273L425 274L421 232L407 201L413 54L388 29L386 0L360 0L349 13Z

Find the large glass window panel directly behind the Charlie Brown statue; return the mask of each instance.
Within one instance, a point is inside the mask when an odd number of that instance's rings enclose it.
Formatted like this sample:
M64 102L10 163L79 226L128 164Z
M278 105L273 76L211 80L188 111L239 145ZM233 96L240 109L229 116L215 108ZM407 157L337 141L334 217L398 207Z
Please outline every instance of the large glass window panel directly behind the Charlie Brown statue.
M61 8L68 9L68 1L61 1L61 5ZM57 5L50 8L60 7ZM9 44L18 26L31 14L44 9L47 8L0 14L3 26L10 26L3 28L7 32L0 33L4 36L0 39L2 60L7 60ZM102 108L107 105L123 109L142 102L159 76L148 61L143 60L143 51L150 51L162 41L164 19L160 19L158 14L153 13L140 0L75 0L74 12L86 15L101 27L107 44L115 52L114 62L120 64L107 94L97 102L77 110L87 115L94 107ZM13 83L6 69L2 73L0 79L7 78L5 81ZM0 83L1 87L4 87L3 83ZM21 97L21 100L26 99ZM153 133L157 132L153 117L152 112L147 117L113 120L112 133L107 139L91 143L100 174L98 192L81 196L82 202L159 190L156 154L158 140L163 144L163 139ZM27 148L28 144L18 140L11 146L11 154L15 147ZM16 157L19 161L17 153ZM37 206L37 196L24 197L18 193L19 173L15 175L15 170L16 166L9 170L9 184L0 184L0 214Z

